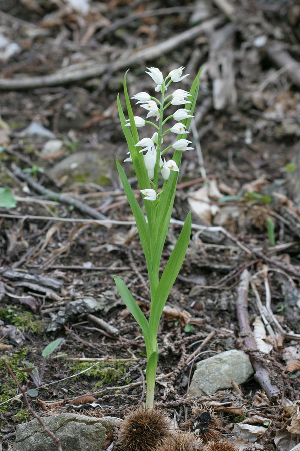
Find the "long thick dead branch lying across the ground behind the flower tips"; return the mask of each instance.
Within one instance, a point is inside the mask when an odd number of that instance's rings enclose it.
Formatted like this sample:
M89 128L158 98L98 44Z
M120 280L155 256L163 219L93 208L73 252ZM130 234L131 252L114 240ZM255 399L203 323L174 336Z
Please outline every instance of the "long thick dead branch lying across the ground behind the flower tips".
M113 73L119 69L133 66L134 64L138 64L140 66L141 62L153 60L158 56L167 54L173 49L180 47L185 42L194 40L201 33L212 33L215 27L219 26L222 22L223 18L217 17L210 19L202 24L190 28L189 30L179 33L178 35L172 36L164 42L155 43L151 47L133 52L130 56L126 56L125 59L119 59L114 63L98 64L93 61L89 61L82 63L80 65L81 67L78 67L78 64L71 65L50 75L25 77L21 79L0 79L0 90L22 90L46 86L59 86L78 80L99 77L107 71Z

